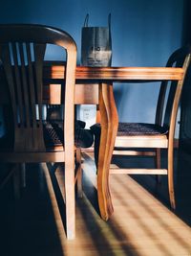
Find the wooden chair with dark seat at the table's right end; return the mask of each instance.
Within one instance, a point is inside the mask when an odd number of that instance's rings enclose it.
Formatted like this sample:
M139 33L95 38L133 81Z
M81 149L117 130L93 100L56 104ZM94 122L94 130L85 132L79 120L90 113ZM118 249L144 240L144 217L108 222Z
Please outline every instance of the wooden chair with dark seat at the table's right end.
M117 166L117 168L114 167L110 169L110 174L168 175L169 198L173 209L176 208L173 176L174 134L180 94L191 58L190 53L190 47L181 48L173 53L167 61L167 67L182 67L183 80L161 82L155 124L118 123L113 155L154 156L156 159L156 168L122 169ZM167 100L166 94L168 94ZM96 134L95 158L97 164L100 126L96 124L93 130ZM146 151L146 149L150 150ZM160 167L161 149L167 149L168 152L166 169L161 169Z

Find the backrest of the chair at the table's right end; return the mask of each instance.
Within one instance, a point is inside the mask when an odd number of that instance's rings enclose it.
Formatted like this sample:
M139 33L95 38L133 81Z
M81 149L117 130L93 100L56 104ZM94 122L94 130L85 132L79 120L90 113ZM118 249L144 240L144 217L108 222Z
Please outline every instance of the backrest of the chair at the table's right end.
M167 67L181 67L183 69L182 81L162 81L160 85L156 124L163 126L167 130L172 124L175 126L183 81L190 59L191 47L186 46L174 52L166 63Z

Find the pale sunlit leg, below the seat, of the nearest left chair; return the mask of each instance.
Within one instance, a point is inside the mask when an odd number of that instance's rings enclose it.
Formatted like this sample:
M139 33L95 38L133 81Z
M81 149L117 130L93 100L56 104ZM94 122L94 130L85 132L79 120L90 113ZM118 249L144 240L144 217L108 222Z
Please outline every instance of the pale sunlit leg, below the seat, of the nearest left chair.
M67 239L73 240L75 237L74 157L65 156L66 233Z

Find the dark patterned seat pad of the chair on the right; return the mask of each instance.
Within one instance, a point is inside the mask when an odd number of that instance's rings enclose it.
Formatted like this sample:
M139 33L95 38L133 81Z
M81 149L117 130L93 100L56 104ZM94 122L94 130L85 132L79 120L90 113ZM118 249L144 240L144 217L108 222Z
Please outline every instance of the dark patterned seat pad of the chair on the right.
M167 134L168 129L146 123L118 123L117 136L159 135Z

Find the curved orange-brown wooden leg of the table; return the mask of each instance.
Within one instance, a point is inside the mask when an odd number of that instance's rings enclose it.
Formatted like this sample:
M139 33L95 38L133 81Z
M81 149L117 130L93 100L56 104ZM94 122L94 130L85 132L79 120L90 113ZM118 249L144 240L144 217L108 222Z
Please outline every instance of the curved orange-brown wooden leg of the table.
M109 189L109 171L118 127L113 84L99 84L99 108L101 137L97 167L97 196L101 218L107 221L114 212Z

